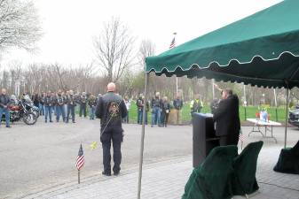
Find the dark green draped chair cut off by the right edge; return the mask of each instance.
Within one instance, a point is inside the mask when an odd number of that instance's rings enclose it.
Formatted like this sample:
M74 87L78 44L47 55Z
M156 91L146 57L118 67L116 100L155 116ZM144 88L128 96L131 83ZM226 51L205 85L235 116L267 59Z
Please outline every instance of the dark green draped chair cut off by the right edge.
M281 149L275 172L299 174L299 141L291 149Z

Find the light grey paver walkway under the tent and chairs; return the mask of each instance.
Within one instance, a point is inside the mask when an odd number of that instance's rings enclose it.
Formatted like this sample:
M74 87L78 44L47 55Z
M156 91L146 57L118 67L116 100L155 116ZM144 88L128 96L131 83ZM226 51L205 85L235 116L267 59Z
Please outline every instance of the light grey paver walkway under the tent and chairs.
M254 199L298 199L298 175L273 172L279 148L263 149L258 161L256 177L260 186ZM185 182L192 172L192 157L175 158L146 165L143 172L142 194L145 199L174 199L184 193ZM100 198L131 199L137 198L137 169L123 171L121 176L104 177L100 174L76 183L52 188L25 198ZM244 198L234 196L233 198Z

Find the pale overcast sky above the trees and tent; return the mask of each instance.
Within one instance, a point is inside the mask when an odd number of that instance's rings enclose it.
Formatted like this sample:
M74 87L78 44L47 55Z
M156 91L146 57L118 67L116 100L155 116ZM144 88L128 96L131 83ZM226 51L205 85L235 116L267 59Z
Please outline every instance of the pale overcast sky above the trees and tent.
M92 37L103 22L119 17L133 35L151 40L156 54L176 43L187 42L235 20L277 4L281 0L35 0L43 39L35 54L11 50L2 65L18 61L84 65L93 59ZM138 46L137 46L138 47Z

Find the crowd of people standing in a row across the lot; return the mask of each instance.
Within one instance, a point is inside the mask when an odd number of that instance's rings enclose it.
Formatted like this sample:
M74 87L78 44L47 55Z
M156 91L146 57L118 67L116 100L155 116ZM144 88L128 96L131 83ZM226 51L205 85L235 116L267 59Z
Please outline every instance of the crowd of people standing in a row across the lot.
M20 96L24 97L26 94ZM29 96L29 95L26 95ZM66 92L59 89L57 92L43 92L40 94L34 94L30 96L35 107L39 108L40 115L43 116L44 122L56 122L63 121L68 123L69 121L75 123L75 111L77 110L80 118L87 118L89 112L89 118L95 119L95 110L98 103L98 97L91 94L75 93L73 90ZM12 101L17 101L15 96L10 97ZM137 106L137 123L143 122L143 110L146 109L146 125L148 123L148 113L151 117L151 126L168 126L169 114L172 112L173 123L175 125L182 125L182 108L183 100L180 95L177 95L171 102L167 96L161 97L160 92L156 92L151 100L145 102L145 96L140 94L135 101L130 100L128 96L123 97L123 101L126 105L128 114L122 119L122 122L130 122L130 108L132 104ZM191 101L190 113L200 112L202 108L202 102L199 95L195 95ZM133 122L134 123L134 122Z

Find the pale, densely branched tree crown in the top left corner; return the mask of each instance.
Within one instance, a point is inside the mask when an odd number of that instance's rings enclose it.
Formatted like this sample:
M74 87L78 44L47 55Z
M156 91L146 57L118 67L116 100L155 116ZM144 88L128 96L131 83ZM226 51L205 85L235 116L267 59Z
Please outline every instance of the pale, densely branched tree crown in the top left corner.
M0 0L0 49L35 50L41 37L35 5L30 0Z

